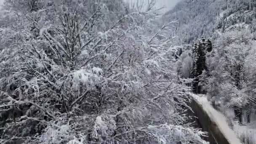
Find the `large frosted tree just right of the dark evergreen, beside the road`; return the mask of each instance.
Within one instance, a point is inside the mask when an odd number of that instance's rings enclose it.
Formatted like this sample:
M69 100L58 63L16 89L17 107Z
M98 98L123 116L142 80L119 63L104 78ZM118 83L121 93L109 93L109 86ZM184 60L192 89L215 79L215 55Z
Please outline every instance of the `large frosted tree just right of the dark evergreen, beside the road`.
M226 104L235 107L240 122L242 109L249 104L246 93L248 74L245 74L246 59L252 48L253 35L247 30L225 32L216 42L216 53L208 60L210 78L208 95L214 96ZM249 78L249 77L248 77Z

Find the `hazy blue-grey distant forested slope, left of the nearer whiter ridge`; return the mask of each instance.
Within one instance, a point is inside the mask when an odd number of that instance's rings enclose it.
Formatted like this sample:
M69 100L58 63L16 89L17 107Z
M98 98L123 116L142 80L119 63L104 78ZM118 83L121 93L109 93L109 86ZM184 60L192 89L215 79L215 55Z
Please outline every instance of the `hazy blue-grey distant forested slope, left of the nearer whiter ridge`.
M179 44L191 44L202 36L210 37L216 29L224 0L182 0L163 16L163 21L178 20L175 35Z

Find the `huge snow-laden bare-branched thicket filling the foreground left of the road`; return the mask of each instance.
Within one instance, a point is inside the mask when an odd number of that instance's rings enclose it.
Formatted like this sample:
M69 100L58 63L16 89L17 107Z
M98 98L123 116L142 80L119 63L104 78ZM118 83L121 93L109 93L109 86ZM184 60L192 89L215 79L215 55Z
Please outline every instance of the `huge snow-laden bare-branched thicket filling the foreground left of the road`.
M203 142L179 113L189 88L154 3L5 0L0 143Z

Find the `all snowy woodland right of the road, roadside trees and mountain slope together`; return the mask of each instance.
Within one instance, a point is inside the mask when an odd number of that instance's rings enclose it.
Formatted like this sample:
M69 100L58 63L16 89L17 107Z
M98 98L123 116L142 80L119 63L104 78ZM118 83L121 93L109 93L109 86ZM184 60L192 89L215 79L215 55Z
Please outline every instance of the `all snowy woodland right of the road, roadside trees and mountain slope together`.
M256 108L256 1L183 0L163 19L179 20L176 43L191 45L176 63L179 75L194 78L195 92L207 94L213 106L218 101L234 109L239 123L251 123ZM213 47L198 55L205 40L201 37L210 37ZM198 68L203 71L193 75Z

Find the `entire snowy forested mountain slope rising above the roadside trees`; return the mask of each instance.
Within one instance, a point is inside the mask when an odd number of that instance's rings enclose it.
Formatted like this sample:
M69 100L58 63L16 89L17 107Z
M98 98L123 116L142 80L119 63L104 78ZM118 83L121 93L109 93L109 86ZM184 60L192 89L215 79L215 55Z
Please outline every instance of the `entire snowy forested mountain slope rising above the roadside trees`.
M178 20L175 29L178 43L191 44L215 32L247 27L255 31L255 0L183 0L165 13L163 21ZM242 24L242 25L241 25Z

